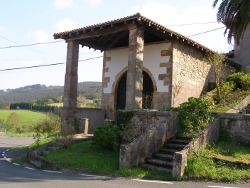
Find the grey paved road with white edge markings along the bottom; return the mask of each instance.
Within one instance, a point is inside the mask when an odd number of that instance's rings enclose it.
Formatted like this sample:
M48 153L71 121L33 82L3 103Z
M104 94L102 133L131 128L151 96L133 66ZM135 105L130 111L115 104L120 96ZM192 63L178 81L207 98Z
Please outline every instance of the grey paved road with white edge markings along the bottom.
M3 157L8 156L6 149L27 145L32 138L0 137L0 188L232 188L250 187L249 184L221 184L213 182L165 182L144 181L138 179L95 176L73 172L49 172L25 166L17 166ZM4 153L3 153L4 152ZM3 154L2 154L3 153Z

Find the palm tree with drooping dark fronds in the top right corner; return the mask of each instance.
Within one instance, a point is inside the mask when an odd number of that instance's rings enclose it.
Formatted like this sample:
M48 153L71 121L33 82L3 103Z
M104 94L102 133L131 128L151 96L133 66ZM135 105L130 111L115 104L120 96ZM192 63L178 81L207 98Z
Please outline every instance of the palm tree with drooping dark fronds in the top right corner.
M216 7L219 0L214 0L213 7ZM228 42L235 38L239 45L243 38L247 24L250 21L249 0L221 0L217 11L217 21L225 24L224 35L227 34Z

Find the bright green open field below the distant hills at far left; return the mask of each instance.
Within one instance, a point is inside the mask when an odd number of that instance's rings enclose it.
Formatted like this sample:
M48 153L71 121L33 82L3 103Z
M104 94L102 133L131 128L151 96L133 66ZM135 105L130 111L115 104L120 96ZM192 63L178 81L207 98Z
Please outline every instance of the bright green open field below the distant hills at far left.
M42 112L33 112L30 110L0 110L0 119L7 120L9 115L16 112L20 117L21 125L36 125L39 119L46 118Z

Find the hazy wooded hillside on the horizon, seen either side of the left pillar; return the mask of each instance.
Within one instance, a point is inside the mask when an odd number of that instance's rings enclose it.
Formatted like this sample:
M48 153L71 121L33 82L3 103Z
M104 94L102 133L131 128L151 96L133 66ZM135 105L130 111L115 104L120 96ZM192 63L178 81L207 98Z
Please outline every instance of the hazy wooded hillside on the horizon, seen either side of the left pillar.
M101 82L80 82L78 83L78 94L82 94L88 99L100 98ZM17 102L32 102L34 100L44 100L63 96L63 86L45 86L35 84L8 89L0 92L0 104L10 104Z

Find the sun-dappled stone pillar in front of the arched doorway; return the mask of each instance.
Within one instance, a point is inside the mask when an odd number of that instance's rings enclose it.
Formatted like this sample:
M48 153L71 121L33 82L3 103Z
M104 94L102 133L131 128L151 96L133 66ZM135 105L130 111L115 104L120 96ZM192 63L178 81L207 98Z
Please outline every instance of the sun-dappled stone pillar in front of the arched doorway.
M134 26L129 29L126 110L142 108L143 50L144 30Z

